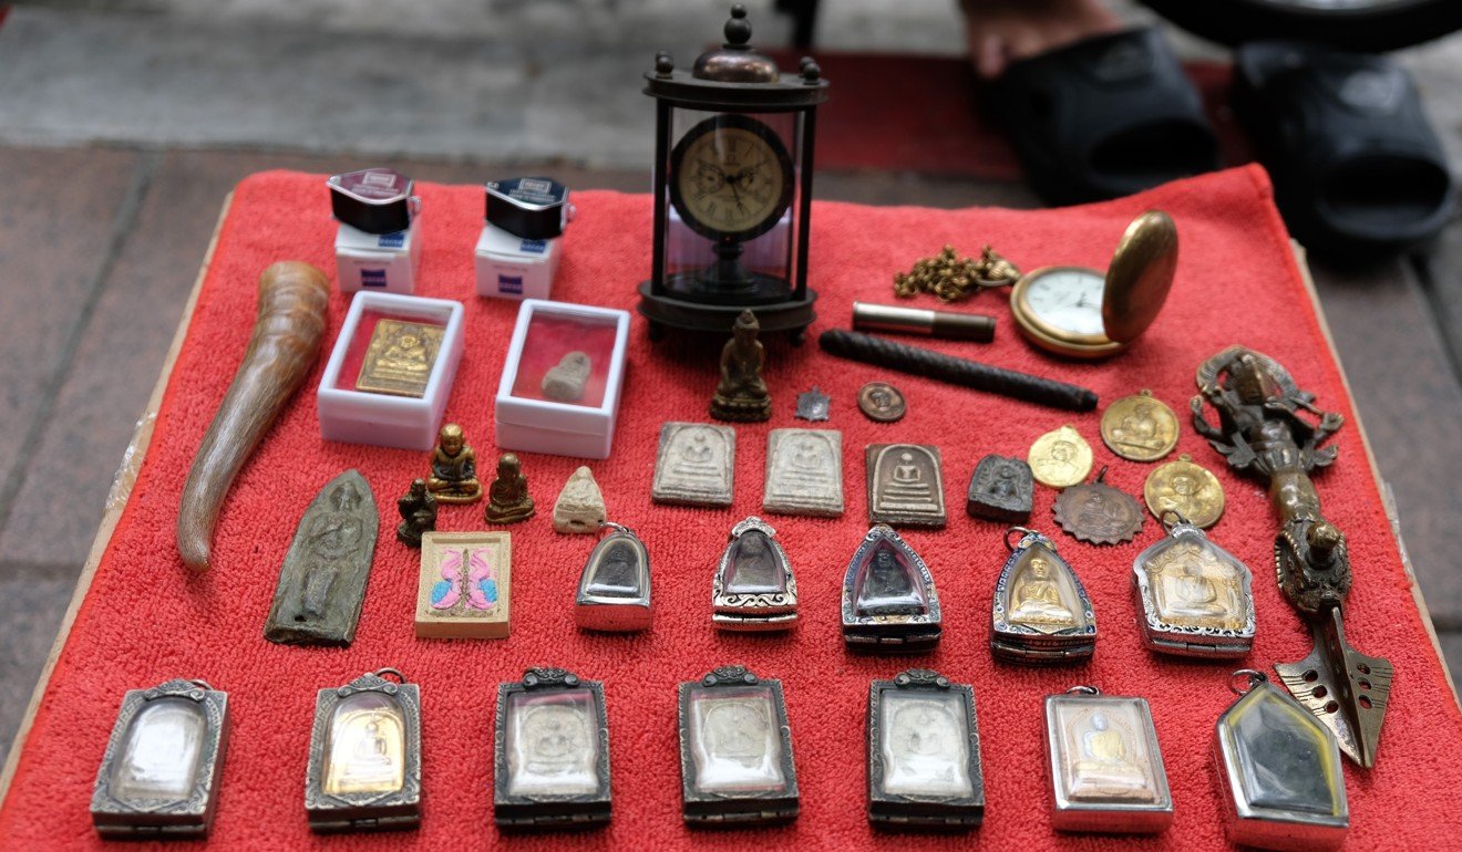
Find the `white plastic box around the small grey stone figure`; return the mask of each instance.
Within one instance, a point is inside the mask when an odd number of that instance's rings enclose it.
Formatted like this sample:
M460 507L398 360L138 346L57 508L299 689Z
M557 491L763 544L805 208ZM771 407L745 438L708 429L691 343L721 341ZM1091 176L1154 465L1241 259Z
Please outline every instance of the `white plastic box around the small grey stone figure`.
M629 311L523 300L497 386L497 446L607 459L618 421L629 336ZM591 358L583 396L577 402L550 399L542 390L544 377L570 352Z

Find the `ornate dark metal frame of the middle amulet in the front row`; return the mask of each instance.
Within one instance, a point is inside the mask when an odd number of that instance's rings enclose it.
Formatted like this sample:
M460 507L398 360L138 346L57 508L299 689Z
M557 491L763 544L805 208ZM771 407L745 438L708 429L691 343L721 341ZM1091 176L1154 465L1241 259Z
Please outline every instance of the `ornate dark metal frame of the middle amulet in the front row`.
M690 741L690 703L696 694L738 687L765 687L772 699L782 744L778 766L787 779L779 789L749 792L700 792L696 789L694 744ZM782 681L763 681L746 666L716 668L699 681L680 684L680 789L683 813L690 826L744 826L789 823L801 810L797 791L797 766L792 760L792 731L787 723Z

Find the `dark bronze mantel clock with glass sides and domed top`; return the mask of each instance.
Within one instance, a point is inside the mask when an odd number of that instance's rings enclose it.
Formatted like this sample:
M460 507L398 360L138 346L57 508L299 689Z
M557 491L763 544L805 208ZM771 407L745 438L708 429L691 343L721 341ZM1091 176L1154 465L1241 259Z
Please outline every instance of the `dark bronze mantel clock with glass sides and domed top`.
M727 333L744 308L763 332L801 342L816 317L807 286L813 140L827 80L811 58L795 75L749 42L746 7L727 41L677 70L645 75L655 98L655 238L639 311L667 327Z

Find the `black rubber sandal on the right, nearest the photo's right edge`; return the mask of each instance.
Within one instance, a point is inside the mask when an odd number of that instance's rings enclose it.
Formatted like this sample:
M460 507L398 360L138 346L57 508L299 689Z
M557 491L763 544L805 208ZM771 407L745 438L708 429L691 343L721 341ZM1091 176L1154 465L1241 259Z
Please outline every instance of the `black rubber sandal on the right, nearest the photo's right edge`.
M1234 111L1289 231L1310 250L1393 254L1450 218L1446 155L1401 66L1268 41L1238 48L1234 77Z

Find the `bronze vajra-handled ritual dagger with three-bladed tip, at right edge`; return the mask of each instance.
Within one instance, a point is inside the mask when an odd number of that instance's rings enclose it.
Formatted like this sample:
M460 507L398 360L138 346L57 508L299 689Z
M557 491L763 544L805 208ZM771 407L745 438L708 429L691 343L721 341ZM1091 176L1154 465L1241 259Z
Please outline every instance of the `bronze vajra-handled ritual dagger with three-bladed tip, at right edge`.
M1300 390L1289 373L1268 355L1230 346L1197 368L1200 395L1193 398L1193 428L1235 471L1268 482L1279 511L1275 568L1279 590L1300 609L1314 636L1314 649L1275 671L1294 697L1339 741L1341 751L1363 767L1376 763L1386 716L1392 665L1345 643L1342 604L1351 587L1345 533L1320 511L1310 472L1335 462L1338 447L1322 447L1345 418L1320 411L1314 395ZM1203 400L1219 415L1203 415Z

